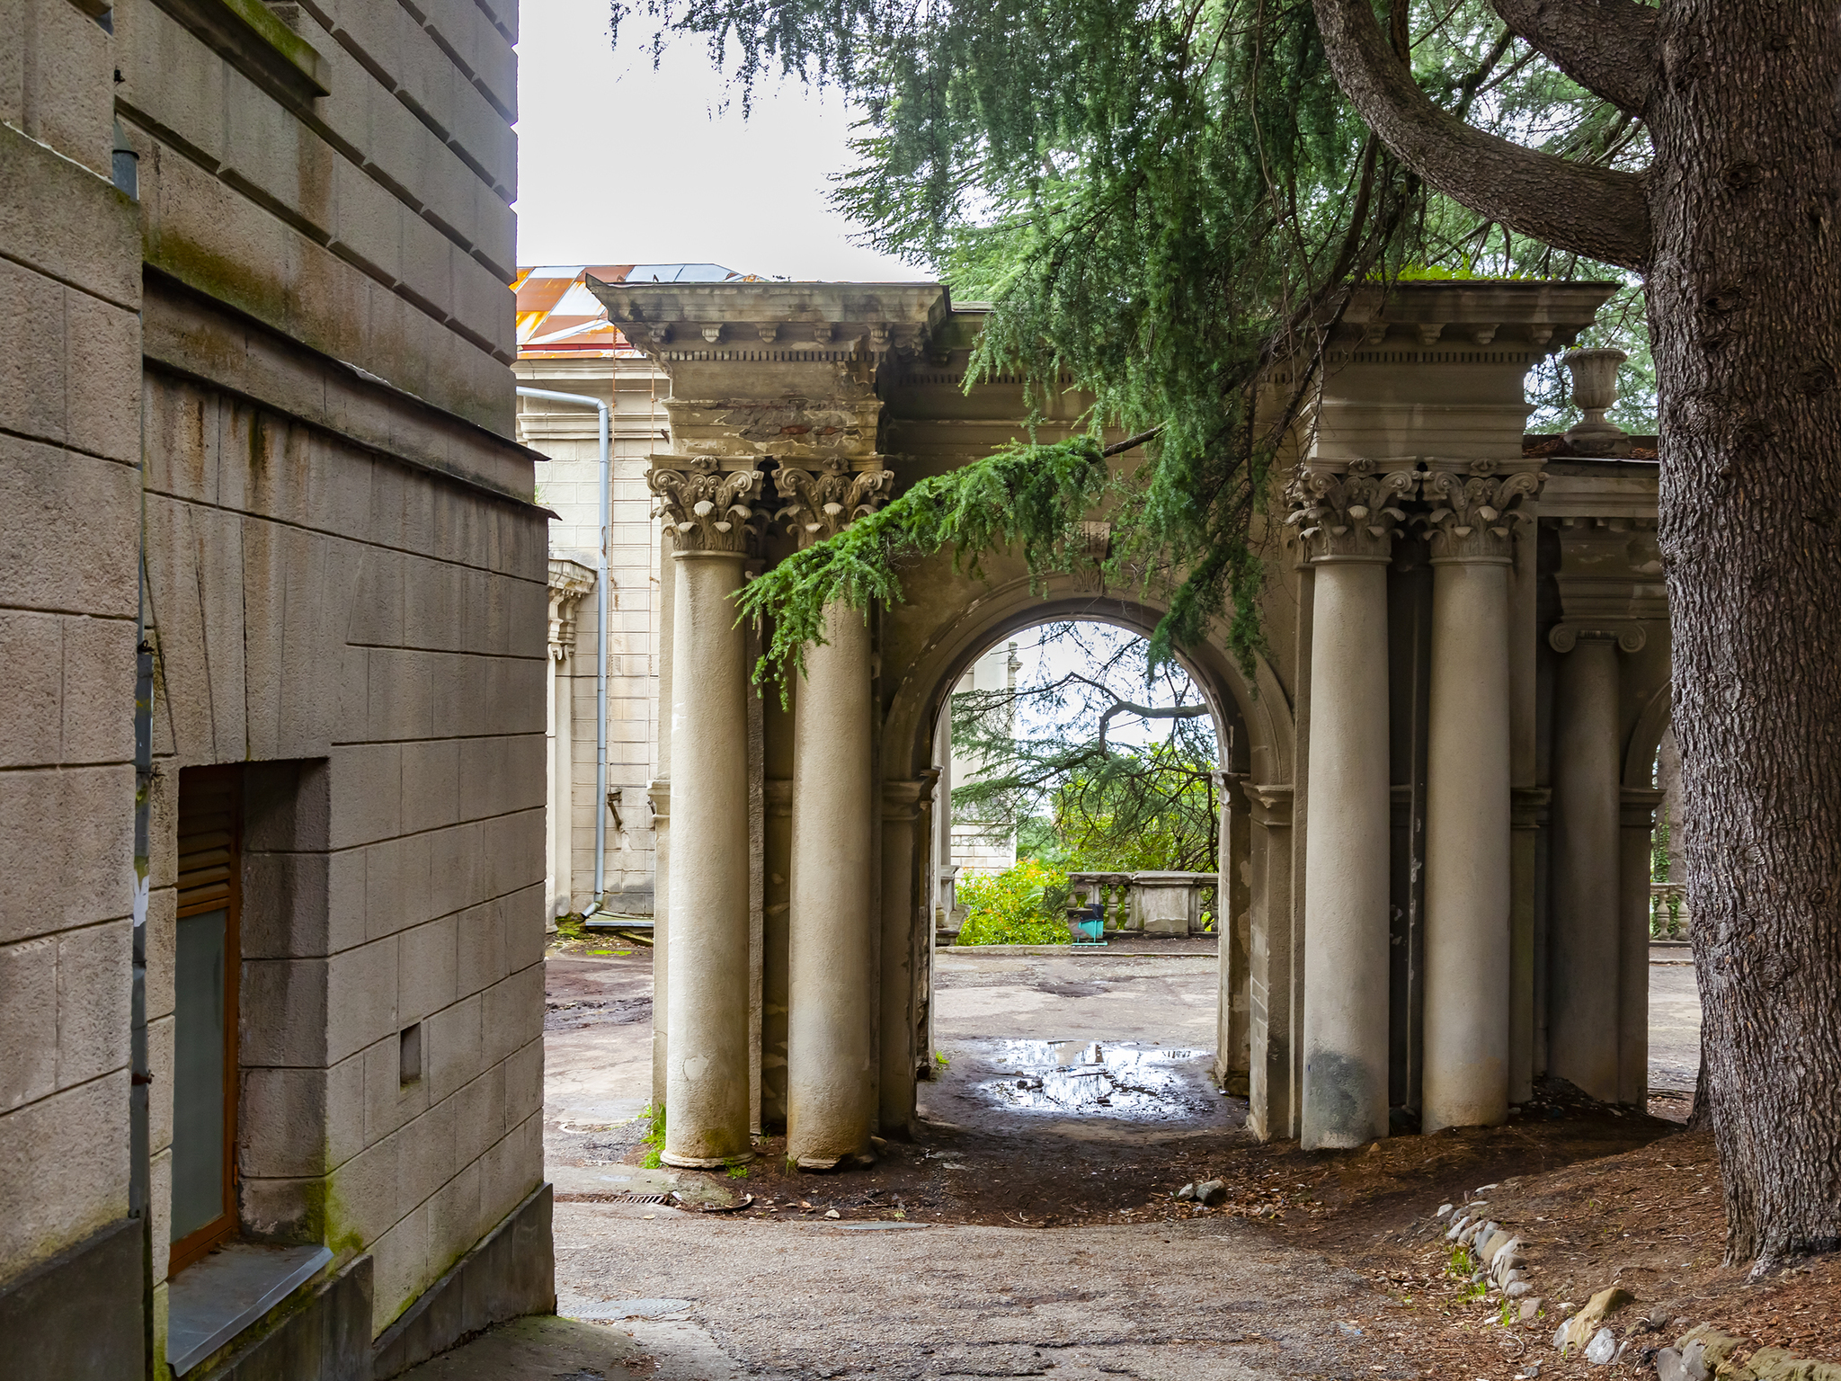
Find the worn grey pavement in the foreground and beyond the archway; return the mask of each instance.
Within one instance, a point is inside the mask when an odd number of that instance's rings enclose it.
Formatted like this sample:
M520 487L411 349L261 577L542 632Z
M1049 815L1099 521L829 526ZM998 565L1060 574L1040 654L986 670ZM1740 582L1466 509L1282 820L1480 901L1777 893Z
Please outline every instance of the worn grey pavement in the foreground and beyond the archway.
M1692 969L1651 969L1651 1061L1659 1083L1694 1083ZM552 985L545 1138L560 1191L663 1188L670 1173L617 1166L646 1101L650 1027L573 1026L562 1004L643 992L639 956L606 972L569 963ZM1685 987L1683 987L1685 981ZM1210 956L965 954L939 965L941 1046L976 1064L1025 1039L1206 1048ZM563 994L563 996L558 996ZM922 1112L979 1112L972 1073L928 1085ZM1079 1120L1057 1136L1106 1134ZM1198 1112L1197 1127L1219 1121ZM1140 1129L1132 1132L1143 1136ZM1160 1125L1154 1136L1186 1134ZM593 1162L604 1164L593 1164ZM620 1182L615 1184L615 1177ZM602 1184L600 1180L606 1180ZM644 1180L644 1182L641 1182ZM654 1184L654 1180L657 1184ZM1239 1221L1086 1228L897 1226L725 1221L626 1202L558 1202L563 1318L492 1329L409 1374L414 1381L731 1381L731 1377L1383 1377L1412 1363L1360 1337L1349 1315L1375 1296L1353 1272L1283 1247Z

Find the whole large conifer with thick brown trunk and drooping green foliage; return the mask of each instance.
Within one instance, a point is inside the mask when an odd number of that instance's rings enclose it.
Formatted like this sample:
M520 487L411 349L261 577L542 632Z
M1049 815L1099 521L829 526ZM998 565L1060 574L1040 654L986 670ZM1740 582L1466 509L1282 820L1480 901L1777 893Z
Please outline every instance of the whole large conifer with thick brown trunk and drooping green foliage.
M827 598L898 598L915 551L1077 563L1073 523L1119 484L1108 574L1165 586L1154 659L1215 617L1245 657L1248 517L1357 284L1640 280L1729 1250L1841 1241L1835 15L1392 0L1383 31L1370 0L615 0L615 28L635 11L655 42L703 35L744 103L773 70L849 90L867 120L839 201L994 300L974 365L1071 374L1095 429L1156 429L1129 473L1092 442L1022 447L775 567L746 602L781 656ZM1256 416L1276 361L1292 407Z

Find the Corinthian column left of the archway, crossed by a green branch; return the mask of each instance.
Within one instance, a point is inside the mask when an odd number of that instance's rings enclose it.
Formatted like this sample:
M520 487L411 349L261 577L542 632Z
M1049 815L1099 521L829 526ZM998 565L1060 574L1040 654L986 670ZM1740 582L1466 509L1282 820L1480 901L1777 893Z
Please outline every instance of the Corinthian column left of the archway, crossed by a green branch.
M782 462L773 482L799 545L832 538L887 493L887 470ZM876 1114L871 878L874 711L869 615L834 602L793 698L793 847L788 897L786 1158L832 1169L871 1158Z

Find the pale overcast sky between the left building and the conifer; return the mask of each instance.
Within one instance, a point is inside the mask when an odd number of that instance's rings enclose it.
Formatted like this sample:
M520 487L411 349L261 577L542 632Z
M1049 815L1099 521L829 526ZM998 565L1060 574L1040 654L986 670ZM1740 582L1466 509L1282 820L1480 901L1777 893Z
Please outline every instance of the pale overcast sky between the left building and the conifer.
M851 114L799 83L718 112L700 41L654 72L635 28L608 42L608 0L538 0L519 15L517 261L722 263L788 278L926 274L851 243L825 201Z

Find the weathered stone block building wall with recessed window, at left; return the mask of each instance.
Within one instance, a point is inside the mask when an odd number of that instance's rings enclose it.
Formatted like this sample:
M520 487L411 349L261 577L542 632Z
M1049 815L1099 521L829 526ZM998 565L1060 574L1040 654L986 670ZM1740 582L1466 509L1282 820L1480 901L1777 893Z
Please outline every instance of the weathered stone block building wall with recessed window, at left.
M0 932L0 972L17 969L0 1153L26 1167L4 1178L20 1206L0 1331L20 1337L15 1311L46 1348L92 1346L107 1315L168 1374L175 917L199 876L179 810L188 773L214 768L241 792L232 1237L330 1248L291 1328L333 1320L350 1355L324 1374L390 1375L490 1322L482 1307L552 1300L545 519L512 438L515 6L24 11L0 81L0 320L24 331L4 344L0 409L18 416L0 420L0 484L28 541L0 556L0 626L31 652L4 665L33 668L39 727L6 764L28 770L0 772L26 860L6 924L31 917ZM112 138L138 155L138 206L103 180ZM125 919L136 547L144 1118ZM52 1005L17 1007L15 976ZM123 1217L123 1309L94 1289L72 1296L85 1318L28 1307L48 1254ZM237 1339L190 1375L272 1368L289 1337ZM123 1359L35 1374L140 1374Z

